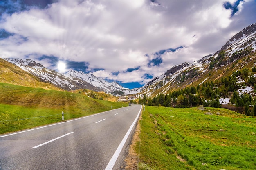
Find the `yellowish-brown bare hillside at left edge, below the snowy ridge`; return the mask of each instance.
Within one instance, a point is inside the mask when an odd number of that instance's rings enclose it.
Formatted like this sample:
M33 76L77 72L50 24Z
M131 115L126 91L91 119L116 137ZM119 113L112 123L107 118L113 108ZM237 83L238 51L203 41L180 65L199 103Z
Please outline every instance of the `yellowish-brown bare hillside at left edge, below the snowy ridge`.
M26 87L62 90L51 83L42 82L40 78L25 72L20 67L0 58L0 82Z

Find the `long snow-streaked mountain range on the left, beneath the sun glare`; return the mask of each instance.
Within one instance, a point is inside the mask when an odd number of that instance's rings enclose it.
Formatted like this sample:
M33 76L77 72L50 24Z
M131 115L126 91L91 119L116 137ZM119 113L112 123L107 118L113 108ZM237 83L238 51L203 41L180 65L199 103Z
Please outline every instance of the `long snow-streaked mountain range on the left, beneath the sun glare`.
M31 59L5 59L20 67L22 70L32 74L41 81L52 83L64 90L90 89L111 93L113 91L126 90L116 82L107 82L102 78L97 78L93 74L86 74L81 71L69 71L67 74L60 74L54 70L45 68L40 63Z

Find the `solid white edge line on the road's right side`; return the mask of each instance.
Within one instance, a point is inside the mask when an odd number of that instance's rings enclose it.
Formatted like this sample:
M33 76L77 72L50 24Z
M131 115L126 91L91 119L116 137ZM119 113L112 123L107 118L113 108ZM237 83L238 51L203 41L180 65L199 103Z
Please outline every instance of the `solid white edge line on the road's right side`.
M139 110L139 113L138 113L137 117L135 118L132 125L130 126L130 128L126 132L126 135L124 136L123 140L119 144L119 146L118 146L117 150L115 151L114 155L112 156L112 158L108 162L108 165L106 166L105 170L112 170L112 168L114 167L114 165L117 161L117 158L119 157L119 154L121 153L121 150L124 147L124 144L125 144L126 140L128 139L128 136L130 135L131 131L132 131L133 126L135 125L135 123L137 122L137 119L139 118L139 114L141 113L141 109L142 109L142 105L141 105L141 108Z

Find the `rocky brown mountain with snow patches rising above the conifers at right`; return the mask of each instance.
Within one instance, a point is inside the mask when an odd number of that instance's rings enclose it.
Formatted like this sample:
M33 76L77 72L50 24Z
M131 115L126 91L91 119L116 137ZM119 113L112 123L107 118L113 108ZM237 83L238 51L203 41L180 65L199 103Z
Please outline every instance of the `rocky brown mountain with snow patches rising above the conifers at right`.
M231 37L214 54L209 54L193 63L175 65L143 87L133 90L140 91L141 96L146 94L154 97L159 93L168 94L173 90L195 87L205 81L215 81L222 76L230 76L236 70L252 68L256 65L255 58L256 23Z

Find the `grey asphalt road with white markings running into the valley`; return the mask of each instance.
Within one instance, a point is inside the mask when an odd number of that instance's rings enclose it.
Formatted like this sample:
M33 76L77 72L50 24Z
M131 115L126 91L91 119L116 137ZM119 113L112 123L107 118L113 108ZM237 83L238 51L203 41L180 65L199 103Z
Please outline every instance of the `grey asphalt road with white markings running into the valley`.
M120 169L121 154L141 109L132 105L0 135L0 169Z

